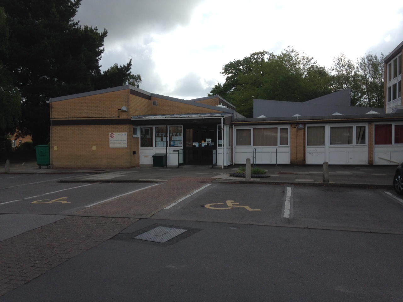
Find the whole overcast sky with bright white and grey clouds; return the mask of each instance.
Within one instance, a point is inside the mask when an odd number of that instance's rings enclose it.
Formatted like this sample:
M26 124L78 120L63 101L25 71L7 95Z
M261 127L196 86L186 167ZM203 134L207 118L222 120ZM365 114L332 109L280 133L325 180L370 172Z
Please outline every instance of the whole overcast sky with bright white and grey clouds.
M131 57L141 89L181 99L205 97L252 52L292 46L330 68L403 41L401 0L82 0L76 20L108 30L102 70Z

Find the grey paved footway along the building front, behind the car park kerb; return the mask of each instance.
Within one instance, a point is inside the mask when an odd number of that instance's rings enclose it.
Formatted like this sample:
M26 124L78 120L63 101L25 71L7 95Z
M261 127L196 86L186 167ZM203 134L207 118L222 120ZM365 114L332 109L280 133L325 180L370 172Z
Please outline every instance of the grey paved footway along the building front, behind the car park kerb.
M10 173L63 174L77 173L76 177L63 182L160 182L172 178L213 178L212 182L245 182L245 178L231 177L241 165L228 167L180 166L152 167L141 166L128 169L38 169L35 162L11 163ZM251 183L283 184L297 183L310 185L378 186L391 187L397 165L330 165L329 184L323 183L322 165L258 165L267 170L267 178L252 178ZM85 175L87 174L87 175ZM91 174L91 175L88 175ZM93 175L96 174L96 175Z

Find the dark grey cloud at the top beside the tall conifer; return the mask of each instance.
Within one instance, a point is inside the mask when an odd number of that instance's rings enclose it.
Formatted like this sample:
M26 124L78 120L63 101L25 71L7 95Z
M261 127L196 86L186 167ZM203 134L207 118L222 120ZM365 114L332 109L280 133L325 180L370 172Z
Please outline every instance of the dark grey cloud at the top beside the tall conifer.
M81 25L108 30L108 43L165 33L190 22L204 0L82 0L75 17Z

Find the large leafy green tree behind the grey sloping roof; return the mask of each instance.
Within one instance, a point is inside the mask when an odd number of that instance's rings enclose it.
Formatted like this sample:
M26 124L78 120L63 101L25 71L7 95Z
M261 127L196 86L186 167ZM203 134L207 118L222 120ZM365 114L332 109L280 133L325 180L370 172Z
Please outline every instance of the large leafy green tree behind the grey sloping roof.
M307 101L331 92L331 77L313 58L288 47L275 55L255 52L222 68L227 77L209 95L219 94L244 116L253 116L253 99Z

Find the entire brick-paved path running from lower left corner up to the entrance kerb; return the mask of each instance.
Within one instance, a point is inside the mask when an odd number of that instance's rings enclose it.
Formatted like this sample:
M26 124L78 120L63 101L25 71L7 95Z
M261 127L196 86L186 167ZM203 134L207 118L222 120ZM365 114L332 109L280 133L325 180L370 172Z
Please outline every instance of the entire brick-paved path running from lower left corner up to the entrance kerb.
M168 181L0 242L0 296L112 238L204 186L207 179Z

